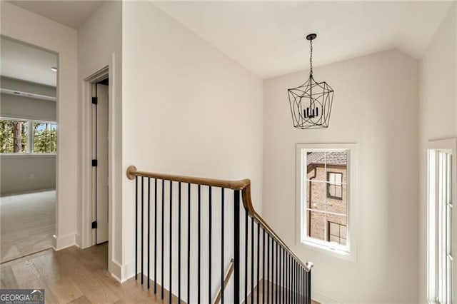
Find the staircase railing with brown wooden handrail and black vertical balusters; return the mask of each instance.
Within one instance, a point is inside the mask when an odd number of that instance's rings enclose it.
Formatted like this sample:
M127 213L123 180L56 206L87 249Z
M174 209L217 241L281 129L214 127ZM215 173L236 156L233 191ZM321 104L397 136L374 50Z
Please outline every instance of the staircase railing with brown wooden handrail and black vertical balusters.
M134 166L127 177L135 181L135 279L161 300L311 303L313 264L256 213L251 181Z

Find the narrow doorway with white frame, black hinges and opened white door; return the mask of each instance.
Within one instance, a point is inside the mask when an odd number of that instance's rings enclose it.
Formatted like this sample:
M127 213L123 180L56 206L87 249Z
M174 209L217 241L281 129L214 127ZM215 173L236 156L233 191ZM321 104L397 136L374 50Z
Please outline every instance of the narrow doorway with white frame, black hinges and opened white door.
M81 247L103 253L111 273L111 75L109 66L84 79L82 101Z

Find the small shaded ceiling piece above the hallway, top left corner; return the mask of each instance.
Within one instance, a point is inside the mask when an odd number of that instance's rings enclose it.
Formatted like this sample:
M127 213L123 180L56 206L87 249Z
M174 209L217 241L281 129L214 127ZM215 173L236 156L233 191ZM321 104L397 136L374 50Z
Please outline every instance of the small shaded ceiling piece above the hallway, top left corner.
M27 11L33 11L48 19L79 29L106 1L8 1Z

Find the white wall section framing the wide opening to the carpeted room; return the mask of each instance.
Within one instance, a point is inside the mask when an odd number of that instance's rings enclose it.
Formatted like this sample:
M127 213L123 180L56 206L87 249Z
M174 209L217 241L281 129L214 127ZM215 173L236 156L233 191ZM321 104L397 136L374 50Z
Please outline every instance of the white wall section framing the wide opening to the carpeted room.
M78 152L78 116L76 106L77 37L76 31L1 1L0 33L26 44L59 54L57 76L57 148L56 158L56 249L74 245L76 235L76 198Z

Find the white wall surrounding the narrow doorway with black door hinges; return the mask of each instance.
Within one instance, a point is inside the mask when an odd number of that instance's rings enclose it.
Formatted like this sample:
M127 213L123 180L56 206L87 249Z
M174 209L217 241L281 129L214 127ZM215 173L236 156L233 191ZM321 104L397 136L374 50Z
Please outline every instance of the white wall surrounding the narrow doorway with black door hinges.
M78 214L77 243L82 247L91 245L90 222L82 221L81 214L90 206L91 191L91 146L90 130L91 103L84 96L84 79L109 66L109 212L112 221L109 235L109 259L114 262L114 275L121 278L119 265L122 263L122 180L125 172L122 167L122 2L107 1L78 31L79 69L79 117L81 138L79 138L81 163L79 183L82 187L81 205ZM113 228L111 230L111 228ZM88 231L89 230L89 231ZM112 235L111 235L112 233ZM84 236L89 237L85 238Z

